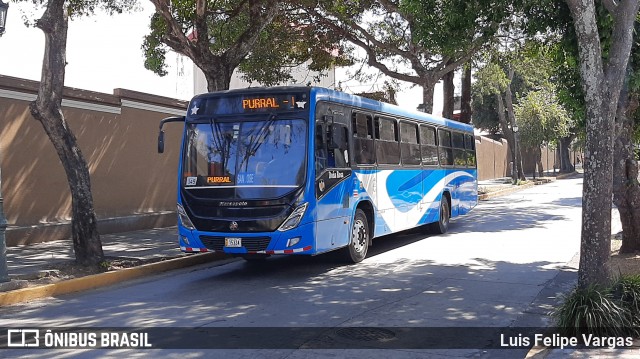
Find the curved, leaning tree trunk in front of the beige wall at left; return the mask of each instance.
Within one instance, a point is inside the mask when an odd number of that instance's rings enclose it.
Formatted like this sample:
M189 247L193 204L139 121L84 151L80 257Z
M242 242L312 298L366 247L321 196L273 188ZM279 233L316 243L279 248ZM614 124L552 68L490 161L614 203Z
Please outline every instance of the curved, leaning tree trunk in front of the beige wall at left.
M36 24L45 34L42 78L38 96L29 105L33 117L42 123L62 166L71 191L71 231L76 262L96 265L104 260L102 243L91 195L87 163L75 136L62 114L68 17L65 0L49 0Z

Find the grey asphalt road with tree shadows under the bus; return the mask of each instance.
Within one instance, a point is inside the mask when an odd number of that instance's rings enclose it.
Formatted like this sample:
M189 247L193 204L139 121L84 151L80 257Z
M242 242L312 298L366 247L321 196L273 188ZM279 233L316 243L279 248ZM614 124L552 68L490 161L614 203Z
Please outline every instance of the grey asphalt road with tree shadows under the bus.
M171 328L152 333L151 344L190 348L0 357L524 357L527 350L488 348L507 327L544 325L573 285L567 263L579 250L581 191L582 179L564 179L481 202L446 235L374 240L357 265L332 255L236 260L0 308L1 328ZM219 329L229 327L254 335Z

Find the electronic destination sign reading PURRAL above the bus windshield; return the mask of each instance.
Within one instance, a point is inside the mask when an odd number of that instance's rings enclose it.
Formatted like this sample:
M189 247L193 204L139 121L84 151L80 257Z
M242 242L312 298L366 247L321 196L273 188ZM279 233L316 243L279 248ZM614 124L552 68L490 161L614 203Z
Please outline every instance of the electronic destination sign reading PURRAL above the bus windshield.
M212 94L196 97L189 104L188 115L228 115L236 113L301 111L308 108L306 91L298 93Z

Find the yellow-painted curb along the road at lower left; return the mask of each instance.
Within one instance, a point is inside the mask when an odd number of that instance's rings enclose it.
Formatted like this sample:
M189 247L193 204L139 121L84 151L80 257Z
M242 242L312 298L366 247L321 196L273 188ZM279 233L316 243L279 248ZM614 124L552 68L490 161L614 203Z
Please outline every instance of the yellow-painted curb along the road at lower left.
M173 269L190 267L211 262L216 259L223 259L226 257L227 256L223 253L198 253L183 258L175 258L162 262L144 264L138 267L119 269L113 272L93 274L85 277L61 281L58 283L2 292L0 293L0 307L28 302L35 299L53 297L56 295L63 295L98 287L104 287L122 281L140 278L145 275L158 274Z

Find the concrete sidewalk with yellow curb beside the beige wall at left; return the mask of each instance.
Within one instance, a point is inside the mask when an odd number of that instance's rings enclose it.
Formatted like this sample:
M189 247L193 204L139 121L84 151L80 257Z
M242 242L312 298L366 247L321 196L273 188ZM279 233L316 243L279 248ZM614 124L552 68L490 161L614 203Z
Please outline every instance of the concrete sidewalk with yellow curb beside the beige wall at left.
M56 271L56 267L64 268L66 263L75 260L70 239L8 247L7 269L11 281L0 283L0 307L106 287L213 261L225 260L220 262L223 264L237 260L224 253L182 253L176 227L105 234L100 238L107 262L116 257L147 264L136 263L129 268L74 277ZM114 262L122 263L111 261Z

